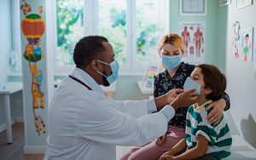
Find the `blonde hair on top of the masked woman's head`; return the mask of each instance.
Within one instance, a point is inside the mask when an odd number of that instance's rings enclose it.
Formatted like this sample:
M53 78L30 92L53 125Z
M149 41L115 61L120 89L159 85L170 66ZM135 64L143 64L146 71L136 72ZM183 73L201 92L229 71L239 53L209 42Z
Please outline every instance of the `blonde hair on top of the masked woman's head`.
M158 44L158 52L160 53L160 50L163 48L166 44L172 44L173 46L177 47L178 49L181 49L181 51L184 51L184 43L183 39L175 34L175 33L169 33L166 34L164 37L160 39L160 42Z

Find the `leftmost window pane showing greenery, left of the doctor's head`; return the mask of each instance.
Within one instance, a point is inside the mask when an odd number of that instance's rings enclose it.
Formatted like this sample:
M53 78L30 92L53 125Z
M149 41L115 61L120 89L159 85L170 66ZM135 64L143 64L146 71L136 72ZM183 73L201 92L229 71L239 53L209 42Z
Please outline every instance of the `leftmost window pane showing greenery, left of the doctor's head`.
M73 48L84 36L84 0L57 0L57 66L73 65Z

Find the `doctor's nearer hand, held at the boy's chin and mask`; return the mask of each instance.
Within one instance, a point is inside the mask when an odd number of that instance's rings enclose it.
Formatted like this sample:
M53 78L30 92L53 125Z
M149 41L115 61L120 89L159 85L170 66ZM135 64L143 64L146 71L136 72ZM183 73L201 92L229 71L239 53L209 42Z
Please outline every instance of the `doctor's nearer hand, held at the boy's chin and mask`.
M195 104L198 96L195 89L190 89L182 94L177 95L177 98L172 101L171 106L176 110L177 108L187 107Z

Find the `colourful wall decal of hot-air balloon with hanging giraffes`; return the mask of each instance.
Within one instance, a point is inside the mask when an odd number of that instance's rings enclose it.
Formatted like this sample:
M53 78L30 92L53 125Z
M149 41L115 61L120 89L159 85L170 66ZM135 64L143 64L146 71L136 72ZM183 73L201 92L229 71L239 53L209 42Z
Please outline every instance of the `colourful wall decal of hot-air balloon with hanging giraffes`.
M23 0L20 9L24 15L31 11L31 7ZM26 9L29 6L29 9ZM43 7L40 6L40 12L43 12ZM39 9L38 8L38 9ZM28 14L21 21L21 31L27 39L25 52L23 54L25 60L28 61L29 69L32 74L32 111L34 124L38 135L45 133L45 124L41 116L37 114L38 109L44 109L44 93L41 90L43 80L42 71L38 70L38 61L44 58L42 49L40 48L40 38L44 34L44 20L39 14Z

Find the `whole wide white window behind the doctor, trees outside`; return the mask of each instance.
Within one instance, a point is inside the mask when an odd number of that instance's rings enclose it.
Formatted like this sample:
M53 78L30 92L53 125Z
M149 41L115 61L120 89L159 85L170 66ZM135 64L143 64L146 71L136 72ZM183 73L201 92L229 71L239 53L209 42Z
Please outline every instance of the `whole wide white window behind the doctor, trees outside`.
M144 71L157 62L157 43L169 30L168 0L56 0L56 71L73 66L75 43L102 35L113 45L120 71Z

